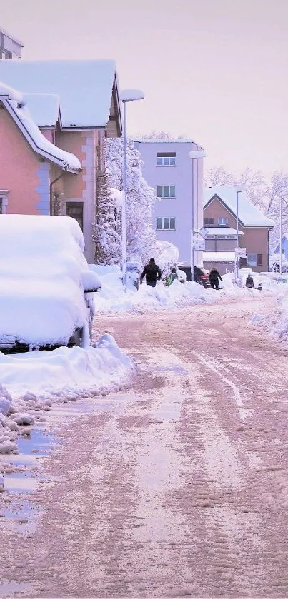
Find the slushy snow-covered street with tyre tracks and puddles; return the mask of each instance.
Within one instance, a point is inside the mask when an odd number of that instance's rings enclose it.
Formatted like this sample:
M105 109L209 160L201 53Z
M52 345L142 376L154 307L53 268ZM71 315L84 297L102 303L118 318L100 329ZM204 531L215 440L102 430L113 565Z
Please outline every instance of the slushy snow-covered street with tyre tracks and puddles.
M1 458L1 598L288 596L287 351L251 324L274 303L96 317L139 371Z

